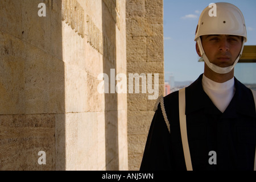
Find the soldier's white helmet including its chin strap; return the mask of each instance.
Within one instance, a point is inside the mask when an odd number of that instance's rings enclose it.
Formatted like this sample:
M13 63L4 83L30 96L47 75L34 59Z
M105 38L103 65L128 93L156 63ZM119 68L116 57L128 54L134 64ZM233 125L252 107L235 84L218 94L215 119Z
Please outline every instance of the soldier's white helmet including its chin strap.
M195 41L199 47L200 53L203 56L205 63L212 71L220 74L229 73L240 59L243 51L243 46L247 41L245 19L238 7L225 2L214 3L216 5L216 16L210 16L211 6L206 7L200 15L199 23L196 29ZM202 35L237 35L243 36L243 43L240 55L234 64L230 67L218 67L210 63L205 55L200 36Z

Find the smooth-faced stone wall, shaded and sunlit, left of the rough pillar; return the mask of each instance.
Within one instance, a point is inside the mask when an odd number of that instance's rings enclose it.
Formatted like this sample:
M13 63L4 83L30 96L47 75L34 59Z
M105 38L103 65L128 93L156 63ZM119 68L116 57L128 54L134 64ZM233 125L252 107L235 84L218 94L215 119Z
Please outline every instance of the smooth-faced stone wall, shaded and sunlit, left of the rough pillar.
M125 1L2 0L0 20L0 170L126 170L127 96L97 88L126 73Z

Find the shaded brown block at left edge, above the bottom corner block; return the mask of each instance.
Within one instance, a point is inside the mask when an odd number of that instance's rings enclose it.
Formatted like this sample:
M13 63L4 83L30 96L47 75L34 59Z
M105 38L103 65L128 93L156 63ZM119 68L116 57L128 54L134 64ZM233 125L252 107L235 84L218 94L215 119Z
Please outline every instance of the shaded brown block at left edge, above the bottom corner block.
M24 43L4 32L0 39L0 114L24 114Z

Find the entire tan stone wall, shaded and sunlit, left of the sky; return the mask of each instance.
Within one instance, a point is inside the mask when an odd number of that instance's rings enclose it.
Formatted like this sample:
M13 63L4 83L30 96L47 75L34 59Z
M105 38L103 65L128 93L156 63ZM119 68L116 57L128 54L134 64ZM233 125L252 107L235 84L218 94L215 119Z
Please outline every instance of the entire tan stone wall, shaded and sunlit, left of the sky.
M0 170L139 169L163 0L1 0L0 22Z

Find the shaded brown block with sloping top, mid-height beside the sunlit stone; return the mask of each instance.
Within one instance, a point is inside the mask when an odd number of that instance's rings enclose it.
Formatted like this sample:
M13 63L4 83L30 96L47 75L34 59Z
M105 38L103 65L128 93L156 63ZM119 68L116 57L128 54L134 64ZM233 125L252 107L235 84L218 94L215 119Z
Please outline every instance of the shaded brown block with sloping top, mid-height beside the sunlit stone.
M25 52L26 113L64 113L63 61L30 44Z

